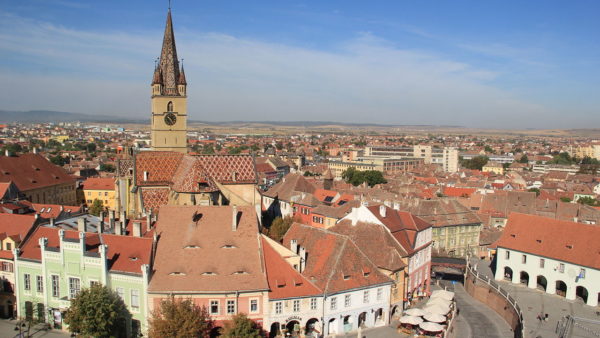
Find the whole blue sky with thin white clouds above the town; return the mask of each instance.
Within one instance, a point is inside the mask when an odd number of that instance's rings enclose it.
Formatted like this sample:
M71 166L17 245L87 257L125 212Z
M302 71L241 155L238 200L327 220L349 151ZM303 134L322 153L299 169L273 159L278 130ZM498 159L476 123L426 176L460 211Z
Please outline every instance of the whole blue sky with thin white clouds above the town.
M0 0L0 110L150 118L167 0ZM600 128L600 2L172 0L188 114Z

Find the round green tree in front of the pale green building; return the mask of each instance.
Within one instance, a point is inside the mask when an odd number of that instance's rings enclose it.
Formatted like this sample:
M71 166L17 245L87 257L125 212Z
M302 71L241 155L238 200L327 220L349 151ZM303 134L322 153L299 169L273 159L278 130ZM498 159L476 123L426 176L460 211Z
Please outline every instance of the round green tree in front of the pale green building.
M69 331L84 337L118 337L131 314L119 295L107 286L94 284L71 299L65 323Z

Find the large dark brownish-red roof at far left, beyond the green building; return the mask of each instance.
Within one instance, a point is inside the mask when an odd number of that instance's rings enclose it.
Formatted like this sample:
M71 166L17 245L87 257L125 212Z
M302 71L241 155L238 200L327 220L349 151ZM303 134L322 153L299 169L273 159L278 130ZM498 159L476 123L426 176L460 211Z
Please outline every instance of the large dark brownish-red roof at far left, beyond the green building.
M75 184L75 179L63 168L39 154L0 156L0 182L10 181L21 191L63 183Z

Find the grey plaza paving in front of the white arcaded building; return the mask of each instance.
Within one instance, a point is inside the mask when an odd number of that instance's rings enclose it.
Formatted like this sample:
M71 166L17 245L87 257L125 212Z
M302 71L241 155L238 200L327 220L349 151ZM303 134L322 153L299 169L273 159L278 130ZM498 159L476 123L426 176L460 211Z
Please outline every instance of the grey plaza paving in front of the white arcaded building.
M493 278L490 261L476 260L477 271ZM600 307L585 305L581 300L566 300L564 297L550 295L541 290L530 289L524 285L497 281L500 287L517 301L523 311L525 336L531 338L557 337L558 322L566 315L592 319L600 322ZM539 321L538 314L548 314L547 321ZM580 323L567 337L600 337L600 324Z

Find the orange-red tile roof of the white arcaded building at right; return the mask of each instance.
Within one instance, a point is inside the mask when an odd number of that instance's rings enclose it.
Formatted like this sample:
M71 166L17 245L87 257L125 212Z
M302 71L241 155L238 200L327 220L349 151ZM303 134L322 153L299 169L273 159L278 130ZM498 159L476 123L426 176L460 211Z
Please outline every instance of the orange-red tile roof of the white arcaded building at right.
M498 247L600 269L600 227L512 213Z

